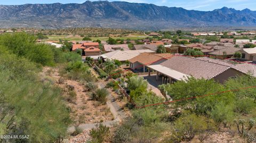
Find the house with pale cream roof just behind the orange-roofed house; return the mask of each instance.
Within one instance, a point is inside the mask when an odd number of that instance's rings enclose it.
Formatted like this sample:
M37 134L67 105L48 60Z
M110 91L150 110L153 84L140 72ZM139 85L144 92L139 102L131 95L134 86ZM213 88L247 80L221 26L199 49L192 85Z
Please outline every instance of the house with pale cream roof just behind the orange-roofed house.
M119 60L121 62L125 62L127 60L130 60L131 58L138 56L141 53L155 53L155 51L151 51L150 49L141 49L141 50L128 50L128 51L121 51L116 50L113 52L109 52L106 54L102 54L101 58L103 60Z

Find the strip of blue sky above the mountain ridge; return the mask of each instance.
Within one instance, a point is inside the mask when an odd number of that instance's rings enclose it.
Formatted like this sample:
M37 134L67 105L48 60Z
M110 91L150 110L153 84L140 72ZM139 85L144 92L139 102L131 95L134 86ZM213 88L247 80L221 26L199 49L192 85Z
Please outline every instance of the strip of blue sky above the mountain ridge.
M27 3L83 3L86 0L0 0L0 5L14 5ZM91 0L93 1L93 0ZM109 0L112 1L112 0ZM133 3L152 3L159 6L183 7L187 10L211 11L223 6L235 8L236 10L250 9L256 11L255 0L115 0Z

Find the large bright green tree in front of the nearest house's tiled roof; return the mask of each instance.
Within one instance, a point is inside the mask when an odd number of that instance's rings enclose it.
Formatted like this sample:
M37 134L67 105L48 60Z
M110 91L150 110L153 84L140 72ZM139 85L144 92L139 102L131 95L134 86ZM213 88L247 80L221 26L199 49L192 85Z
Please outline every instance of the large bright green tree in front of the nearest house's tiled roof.
M219 102L234 103L233 92L222 92L228 89L214 80L189 78L168 84L165 90L174 100L207 95L204 98L191 98L175 103L177 106L191 105L191 110L197 114L206 115Z

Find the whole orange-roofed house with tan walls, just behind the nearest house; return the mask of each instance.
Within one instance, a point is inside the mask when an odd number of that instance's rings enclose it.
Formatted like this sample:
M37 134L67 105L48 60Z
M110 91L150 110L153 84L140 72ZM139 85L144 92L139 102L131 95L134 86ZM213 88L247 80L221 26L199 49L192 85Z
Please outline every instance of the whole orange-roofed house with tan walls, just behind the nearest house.
M173 55L170 53L153 54L153 53L142 53L129 60L130 68L132 70L141 70L146 72L147 65L160 64Z

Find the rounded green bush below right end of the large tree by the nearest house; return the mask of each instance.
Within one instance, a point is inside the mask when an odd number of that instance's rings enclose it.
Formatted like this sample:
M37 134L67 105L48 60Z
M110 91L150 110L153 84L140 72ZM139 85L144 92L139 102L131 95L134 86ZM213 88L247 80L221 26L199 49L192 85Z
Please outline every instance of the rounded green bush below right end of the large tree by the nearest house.
M231 122L234 117L234 106L220 102L213 107L210 116L217 123L223 121Z

